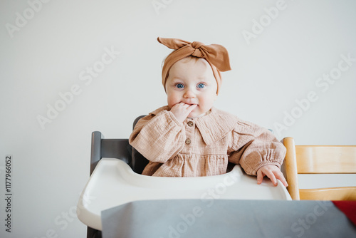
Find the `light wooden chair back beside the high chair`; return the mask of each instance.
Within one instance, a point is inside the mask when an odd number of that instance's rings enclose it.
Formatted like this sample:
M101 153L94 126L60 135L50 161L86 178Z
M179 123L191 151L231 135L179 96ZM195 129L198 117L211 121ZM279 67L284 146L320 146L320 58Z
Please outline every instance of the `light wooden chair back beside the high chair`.
M298 186L298 174L356 174L356 145L295 145L290 137L283 144L287 148L287 189L293 200L356 200L356 187Z

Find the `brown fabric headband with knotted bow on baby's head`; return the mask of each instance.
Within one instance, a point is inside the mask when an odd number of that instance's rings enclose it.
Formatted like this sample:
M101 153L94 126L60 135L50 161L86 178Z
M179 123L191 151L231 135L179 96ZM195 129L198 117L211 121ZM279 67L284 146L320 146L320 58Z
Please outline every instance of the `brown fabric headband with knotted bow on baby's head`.
M219 91L219 86L221 85L220 71L224 72L231 70L229 53L224 46L217 44L204 45L199 41L190 43L189 41L183 41L177 38L158 37L157 41L164 44L164 46L175 50L170 53L164 61L164 66L162 68L162 84L164 87L168 78L169 69L174 63L187 56L195 56L204 58L209 63L213 70L214 77L216 78Z

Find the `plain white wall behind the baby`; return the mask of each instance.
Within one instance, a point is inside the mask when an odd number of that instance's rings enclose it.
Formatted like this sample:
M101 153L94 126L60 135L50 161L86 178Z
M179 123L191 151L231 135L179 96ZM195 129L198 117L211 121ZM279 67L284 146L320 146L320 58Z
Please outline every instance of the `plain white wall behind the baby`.
M1 1L0 190L12 155L13 195L11 233L0 200L0 236L85 237L73 211L88 180L90 133L127 138L137 115L166 103L160 67L170 50L157 36L229 50L233 70L216 108L299 145L355 145L355 9L351 0ZM87 67L100 70L106 51L120 53L89 81ZM333 83L323 80L330 73ZM41 126L48 105L63 110Z

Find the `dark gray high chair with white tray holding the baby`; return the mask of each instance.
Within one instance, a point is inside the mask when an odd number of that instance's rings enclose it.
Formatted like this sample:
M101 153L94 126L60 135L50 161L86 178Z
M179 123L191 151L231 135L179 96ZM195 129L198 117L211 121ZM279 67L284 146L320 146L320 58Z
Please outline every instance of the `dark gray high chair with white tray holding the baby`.
M77 206L78 218L88 226L87 237L101 237L101 212L127 202L211 200L210 192L217 192L219 200L291 200L281 181L276 187L268 179L257 185L256 177L246 175L239 165L223 175L152 177L141 175L147 163L128 139L106 139L98 131L92 133L90 178ZM85 201L87 195L93 200Z

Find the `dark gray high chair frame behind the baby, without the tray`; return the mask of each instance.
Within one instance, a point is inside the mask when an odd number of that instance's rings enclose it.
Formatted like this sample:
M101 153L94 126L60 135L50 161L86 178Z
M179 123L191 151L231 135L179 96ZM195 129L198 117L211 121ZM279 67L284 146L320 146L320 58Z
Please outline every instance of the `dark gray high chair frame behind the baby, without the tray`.
M133 128L135 128L137 121L144 116L145 115L140 115L135 119ZM143 157L140 152L132 148L128 139L105 139L100 131L94 131L91 139L90 175L93 173L96 165L98 165L99 160L103 157L112 157L122 160L130 165L133 171L139 174L142 173L148 163L148 160ZM88 227L87 237L100 238L101 232Z

